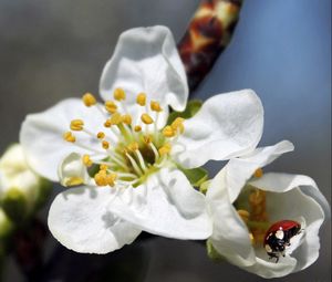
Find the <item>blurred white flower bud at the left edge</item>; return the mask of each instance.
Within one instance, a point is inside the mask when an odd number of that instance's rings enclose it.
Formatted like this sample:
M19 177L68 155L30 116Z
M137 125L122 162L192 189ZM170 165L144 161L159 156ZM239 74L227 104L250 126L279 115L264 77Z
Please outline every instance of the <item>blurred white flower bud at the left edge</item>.
M28 165L22 146L20 144L11 145L0 158L0 200L2 205L8 209L11 209L11 205L23 205L24 212L30 212L48 190L48 182ZM8 211L10 212L10 210ZM22 216L28 215L19 215L20 218Z

